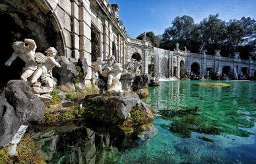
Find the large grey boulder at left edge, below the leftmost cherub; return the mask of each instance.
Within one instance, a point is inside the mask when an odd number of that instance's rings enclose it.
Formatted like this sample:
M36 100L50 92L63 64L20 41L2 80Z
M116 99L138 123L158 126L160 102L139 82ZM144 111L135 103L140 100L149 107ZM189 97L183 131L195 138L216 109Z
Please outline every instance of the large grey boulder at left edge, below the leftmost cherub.
M31 87L22 80L9 81L0 91L0 147L9 144L25 121L39 123L43 115L44 102Z

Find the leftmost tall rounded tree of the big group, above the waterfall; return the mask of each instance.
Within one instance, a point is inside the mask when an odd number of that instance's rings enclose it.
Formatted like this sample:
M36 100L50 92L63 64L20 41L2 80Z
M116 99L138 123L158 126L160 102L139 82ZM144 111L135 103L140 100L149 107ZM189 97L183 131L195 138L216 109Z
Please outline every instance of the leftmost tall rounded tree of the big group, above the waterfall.
M177 16L172 26L164 31L160 47L174 50L176 43L179 43L181 49L187 47L190 51L199 51L201 46L199 26L195 24L191 16Z

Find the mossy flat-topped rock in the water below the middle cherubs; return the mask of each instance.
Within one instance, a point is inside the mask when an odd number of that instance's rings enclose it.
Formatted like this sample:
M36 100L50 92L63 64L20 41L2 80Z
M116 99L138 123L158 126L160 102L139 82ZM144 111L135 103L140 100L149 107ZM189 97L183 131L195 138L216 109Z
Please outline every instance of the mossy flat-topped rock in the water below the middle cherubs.
M111 125L141 125L153 119L151 110L135 92L90 95L83 104L86 119Z

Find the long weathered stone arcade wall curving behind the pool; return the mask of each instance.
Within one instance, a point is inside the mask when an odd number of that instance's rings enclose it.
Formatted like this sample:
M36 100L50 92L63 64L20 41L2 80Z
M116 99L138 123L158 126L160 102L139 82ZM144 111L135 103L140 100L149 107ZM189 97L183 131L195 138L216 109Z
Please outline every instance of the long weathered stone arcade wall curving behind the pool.
M136 58L142 60L143 73L164 77L180 77L191 71L192 64L203 75L209 69L222 71L224 66L247 74L256 70L252 60L194 54L179 49L166 51L152 47L148 41L132 39L119 20L118 6L110 5L108 0L3 0L0 2L0 16L13 21L7 22L10 27L5 29L10 34L5 35L3 42L10 46L1 56L1 65L11 56L14 41L31 38L36 41L38 52L56 47L59 55L71 61L86 58L88 65L97 57L105 60L108 54L113 54L121 64ZM22 68L21 65L16 66ZM2 69L5 72L6 68ZM89 68L85 84L90 84L91 77Z

